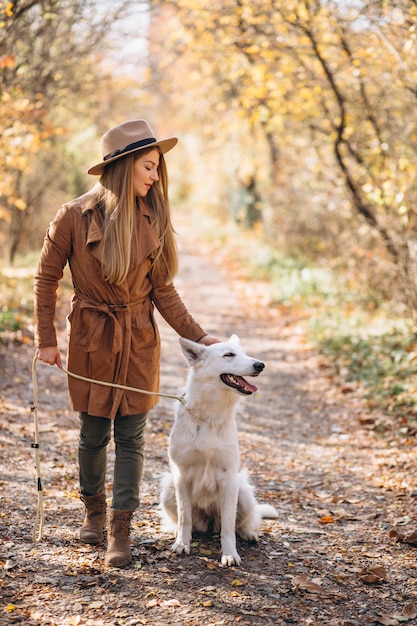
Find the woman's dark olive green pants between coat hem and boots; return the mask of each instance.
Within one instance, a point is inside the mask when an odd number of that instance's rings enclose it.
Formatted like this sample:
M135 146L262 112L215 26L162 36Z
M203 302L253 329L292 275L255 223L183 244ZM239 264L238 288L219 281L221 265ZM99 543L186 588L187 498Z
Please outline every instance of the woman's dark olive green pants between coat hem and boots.
M134 511L139 506L139 485L144 459L144 430L147 413L116 415L114 421L80 413L78 462L80 493L94 496L105 489L107 445L113 437L114 463L112 508Z

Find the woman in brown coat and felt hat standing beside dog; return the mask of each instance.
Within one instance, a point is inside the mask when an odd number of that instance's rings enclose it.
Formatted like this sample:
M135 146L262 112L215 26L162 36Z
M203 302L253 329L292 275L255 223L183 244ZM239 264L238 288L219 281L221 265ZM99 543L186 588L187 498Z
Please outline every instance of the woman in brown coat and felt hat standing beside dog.
M68 369L96 380L158 391L160 340L153 309L181 336L210 345L173 285L178 261L168 203L164 153L176 138L157 141L144 120L119 124L101 139L99 175L86 194L58 211L35 276L36 357L61 367L55 303L69 263L74 295ZM143 433L157 397L69 377L80 414L80 497L86 513L81 541L100 543L106 524L106 447L116 446L105 563L131 561L130 520L139 506Z

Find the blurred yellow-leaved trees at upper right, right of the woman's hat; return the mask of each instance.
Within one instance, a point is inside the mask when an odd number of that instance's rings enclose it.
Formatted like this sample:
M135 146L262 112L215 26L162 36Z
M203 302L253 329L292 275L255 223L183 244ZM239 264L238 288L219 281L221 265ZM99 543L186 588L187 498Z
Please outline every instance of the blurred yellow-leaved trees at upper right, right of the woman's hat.
M415 311L416 3L153 10L157 80L183 132L197 122L219 210Z

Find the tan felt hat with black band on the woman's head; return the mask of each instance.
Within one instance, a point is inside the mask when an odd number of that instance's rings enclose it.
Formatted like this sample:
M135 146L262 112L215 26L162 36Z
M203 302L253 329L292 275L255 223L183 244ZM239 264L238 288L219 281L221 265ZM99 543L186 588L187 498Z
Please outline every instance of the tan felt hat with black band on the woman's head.
M87 174L100 175L106 165L121 157L159 146L162 153L171 150L178 142L176 137L157 140L151 127L145 120L131 120L110 128L101 138L100 147L103 160L87 170Z

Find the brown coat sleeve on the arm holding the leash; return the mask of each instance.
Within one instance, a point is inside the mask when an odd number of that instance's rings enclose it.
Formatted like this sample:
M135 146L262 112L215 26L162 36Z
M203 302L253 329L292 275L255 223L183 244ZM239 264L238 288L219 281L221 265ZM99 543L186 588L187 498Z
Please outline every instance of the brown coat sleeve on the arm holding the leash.
M39 348L57 345L56 297L64 267L71 255L71 232L71 215L68 207L63 206L46 232L35 274L35 344Z

